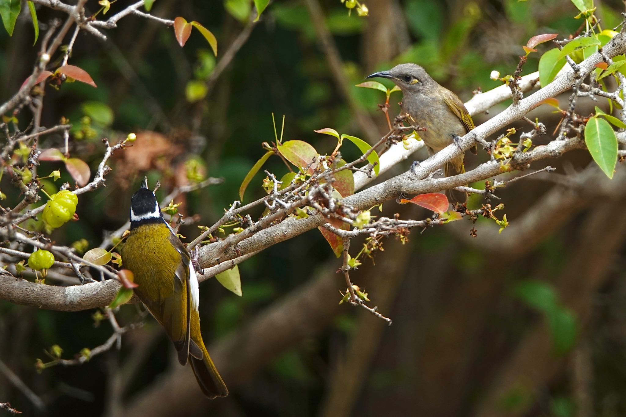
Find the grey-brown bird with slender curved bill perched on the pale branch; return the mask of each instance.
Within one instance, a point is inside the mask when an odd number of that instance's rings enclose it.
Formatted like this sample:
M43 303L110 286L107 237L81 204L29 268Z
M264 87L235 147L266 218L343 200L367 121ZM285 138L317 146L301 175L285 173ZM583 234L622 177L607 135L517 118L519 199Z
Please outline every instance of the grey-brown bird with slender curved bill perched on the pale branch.
M461 136L475 127L463 101L440 86L421 66L400 64L366 78L378 77L391 79L401 89L404 95L402 113L411 116L411 124L426 128L426 131L419 132L419 136L426 144L429 156L458 142ZM471 148L471 152L476 154L476 146ZM464 155L461 155L446 164L446 177L465 172L463 158ZM464 203L467 200L466 193L454 189L446 190L446 195L451 202Z

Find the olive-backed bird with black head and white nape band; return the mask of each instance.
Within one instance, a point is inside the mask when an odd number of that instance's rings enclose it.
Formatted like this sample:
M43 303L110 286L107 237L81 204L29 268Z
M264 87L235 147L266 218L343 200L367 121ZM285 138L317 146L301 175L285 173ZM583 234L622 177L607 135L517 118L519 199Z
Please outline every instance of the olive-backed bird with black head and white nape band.
M145 179L130 204L130 234L121 249L125 268L135 277L135 294L162 324L183 366L192 364L208 398L228 395L226 384L208 356L200 333L198 279L190 256L163 219Z

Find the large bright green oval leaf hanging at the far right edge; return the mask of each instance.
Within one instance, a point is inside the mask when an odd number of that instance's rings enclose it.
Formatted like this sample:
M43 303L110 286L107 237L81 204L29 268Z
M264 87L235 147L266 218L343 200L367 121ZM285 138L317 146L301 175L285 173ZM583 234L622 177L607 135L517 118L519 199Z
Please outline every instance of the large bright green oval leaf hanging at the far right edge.
M604 119L589 119L585 126L585 144L593 161L608 178L613 178L617 164L617 138L611 125Z

